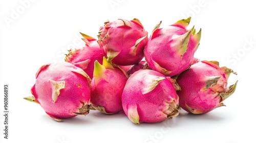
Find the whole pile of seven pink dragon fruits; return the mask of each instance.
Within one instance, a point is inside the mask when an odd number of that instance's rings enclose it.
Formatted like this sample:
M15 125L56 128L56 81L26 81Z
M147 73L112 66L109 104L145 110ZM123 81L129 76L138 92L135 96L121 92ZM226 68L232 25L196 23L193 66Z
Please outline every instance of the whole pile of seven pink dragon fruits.
M225 106L236 90L231 73L218 61L194 57L201 29L187 29L191 17L150 36L139 19L105 21L97 39L81 33L84 47L69 50L65 61L42 65L31 97L55 121L90 110L123 111L134 124L159 123L180 108L203 114Z

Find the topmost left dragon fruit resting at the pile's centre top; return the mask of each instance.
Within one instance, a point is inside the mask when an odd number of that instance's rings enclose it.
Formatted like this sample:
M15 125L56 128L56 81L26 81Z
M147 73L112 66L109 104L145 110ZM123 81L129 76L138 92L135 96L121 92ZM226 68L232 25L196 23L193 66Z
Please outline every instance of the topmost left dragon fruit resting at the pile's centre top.
M104 24L99 29L98 42L109 62L134 65L144 58L143 50L148 37L138 19L117 19L112 22L107 20Z

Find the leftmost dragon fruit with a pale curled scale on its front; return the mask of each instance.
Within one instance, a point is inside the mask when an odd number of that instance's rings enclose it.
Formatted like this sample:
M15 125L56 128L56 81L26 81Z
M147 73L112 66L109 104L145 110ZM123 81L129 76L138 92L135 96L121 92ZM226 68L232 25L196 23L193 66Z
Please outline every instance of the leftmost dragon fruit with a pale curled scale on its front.
M91 106L90 77L69 62L42 65L36 73L31 97L55 121L61 118L87 115Z

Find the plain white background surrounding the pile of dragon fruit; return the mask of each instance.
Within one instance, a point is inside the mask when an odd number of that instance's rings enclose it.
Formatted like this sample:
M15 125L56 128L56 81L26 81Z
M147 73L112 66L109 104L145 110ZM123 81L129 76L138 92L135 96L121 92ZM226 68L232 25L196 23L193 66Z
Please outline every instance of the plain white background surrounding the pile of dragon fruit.
M256 142L255 13L253 1L0 1L0 142ZM123 112L98 111L58 123L23 99L31 96L42 64L63 60L71 47L84 45L79 32L97 38L106 19L136 17L150 35L160 20L164 27L188 16L188 28L202 28L195 56L238 73L229 78L229 85L239 83L226 107L203 115L181 111L158 124L135 125ZM4 84L9 84L9 139L3 134Z

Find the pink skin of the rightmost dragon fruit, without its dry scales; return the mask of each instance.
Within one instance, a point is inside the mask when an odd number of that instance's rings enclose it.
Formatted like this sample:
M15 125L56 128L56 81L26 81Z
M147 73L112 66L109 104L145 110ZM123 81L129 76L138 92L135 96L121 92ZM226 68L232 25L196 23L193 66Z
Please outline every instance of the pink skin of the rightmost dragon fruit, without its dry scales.
M215 91L210 88L202 91L202 88L205 87L204 79L206 76L220 76L218 84L223 84L224 88L227 88L228 78L220 68L204 62L195 63L189 69L183 71L177 79L177 83L181 87L177 94L180 98L180 107L182 109L190 112L186 107L187 104L187 106L196 109L199 113L207 113L220 107L220 103L223 100L220 96L216 96Z

